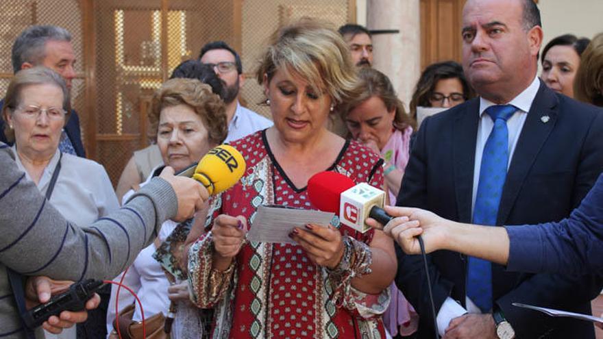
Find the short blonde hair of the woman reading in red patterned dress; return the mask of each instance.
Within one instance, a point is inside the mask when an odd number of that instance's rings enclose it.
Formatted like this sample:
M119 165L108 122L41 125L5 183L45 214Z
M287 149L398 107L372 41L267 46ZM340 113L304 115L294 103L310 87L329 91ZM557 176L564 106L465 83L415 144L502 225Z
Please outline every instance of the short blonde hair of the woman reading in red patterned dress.
M332 25L313 18L278 29L262 56L258 83L268 82L278 70L296 73L335 105L354 96L357 79L352 57Z

